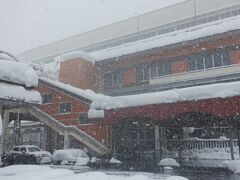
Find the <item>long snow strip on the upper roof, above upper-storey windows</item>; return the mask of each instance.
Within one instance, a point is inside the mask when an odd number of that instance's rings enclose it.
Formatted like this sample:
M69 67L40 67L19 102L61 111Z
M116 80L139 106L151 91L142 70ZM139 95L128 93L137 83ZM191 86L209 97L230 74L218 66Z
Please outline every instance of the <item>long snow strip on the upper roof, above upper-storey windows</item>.
M90 53L98 57L98 61L107 60L123 55L142 52L145 50L169 46L181 42L196 40L216 34L222 34L240 29L240 16L214 21L203 25L158 35L148 39L103 49Z

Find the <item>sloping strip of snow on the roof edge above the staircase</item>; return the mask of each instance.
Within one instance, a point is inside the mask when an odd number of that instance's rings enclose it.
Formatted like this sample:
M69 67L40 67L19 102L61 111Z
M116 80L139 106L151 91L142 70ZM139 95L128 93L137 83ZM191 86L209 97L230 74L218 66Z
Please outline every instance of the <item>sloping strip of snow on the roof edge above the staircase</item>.
M95 92L93 92L90 89L83 90L83 89L71 86L69 84L64 84L62 82L54 81L54 80L51 80L51 79L48 79L45 77L39 77L39 80L42 83L50 84L58 89L64 90L64 92L68 93L70 96L73 94L73 95L76 95L77 97L79 97L80 100L85 99L85 102L88 102L88 103L94 101L98 97L101 97L101 98L104 97L104 95L96 94Z

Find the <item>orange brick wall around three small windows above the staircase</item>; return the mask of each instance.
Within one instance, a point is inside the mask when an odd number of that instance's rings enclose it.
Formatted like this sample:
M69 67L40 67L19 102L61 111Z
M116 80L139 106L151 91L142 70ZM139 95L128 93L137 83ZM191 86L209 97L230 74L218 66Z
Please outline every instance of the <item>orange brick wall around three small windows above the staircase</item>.
M84 103L76 98L73 98L67 94L57 91L56 89L50 88L44 84L39 83L37 90L41 95L43 94L52 94L53 102L49 104L42 104L38 107L52 116L59 122L65 125L76 125L81 130L89 134L90 136L97 139L99 142L106 143L107 131L106 126L102 124L101 120L91 125L80 125L78 123L78 115L80 112L88 112L90 106L87 103ZM71 112L67 114L59 113L59 106L61 103L71 102L72 108Z

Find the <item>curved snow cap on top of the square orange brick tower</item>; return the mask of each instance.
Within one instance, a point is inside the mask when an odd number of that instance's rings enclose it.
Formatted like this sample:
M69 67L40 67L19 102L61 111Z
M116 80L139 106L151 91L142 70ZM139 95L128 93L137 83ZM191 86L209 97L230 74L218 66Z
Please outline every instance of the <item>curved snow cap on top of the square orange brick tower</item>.
M93 55L90 55L83 51L72 51L69 53L59 55L54 59L54 61L64 62L64 61L73 60L73 59L81 59L81 60L91 62L93 64L97 61L97 59Z

